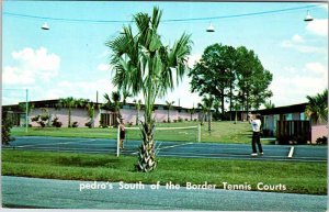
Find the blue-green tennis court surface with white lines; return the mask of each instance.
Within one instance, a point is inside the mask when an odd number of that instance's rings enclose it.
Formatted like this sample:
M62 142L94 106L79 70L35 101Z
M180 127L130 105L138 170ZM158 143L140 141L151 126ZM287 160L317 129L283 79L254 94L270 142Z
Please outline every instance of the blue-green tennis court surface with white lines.
M125 142L122 155L136 155L140 141ZM116 155L116 141L105 138L70 138L70 137L15 137L9 149L33 149L50 152L113 154ZM264 155L251 157L251 145L218 144L218 143L186 143L186 142L156 142L158 156L182 158L223 158L252 159L279 161L327 161L327 146L296 145L292 149L288 145L263 145ZM288 157L291 155L291 157Z

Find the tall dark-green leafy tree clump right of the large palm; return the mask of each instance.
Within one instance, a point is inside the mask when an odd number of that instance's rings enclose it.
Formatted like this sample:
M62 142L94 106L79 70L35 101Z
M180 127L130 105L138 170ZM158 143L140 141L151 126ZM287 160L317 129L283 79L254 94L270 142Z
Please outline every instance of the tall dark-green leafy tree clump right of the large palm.
M273 75L257 54L245 46L207 46L188 76L192 92L214 99L211 107L220 109L220 119L225 119L226 103L229 111L248 112L268 104L266 100L273 94L269 89Z

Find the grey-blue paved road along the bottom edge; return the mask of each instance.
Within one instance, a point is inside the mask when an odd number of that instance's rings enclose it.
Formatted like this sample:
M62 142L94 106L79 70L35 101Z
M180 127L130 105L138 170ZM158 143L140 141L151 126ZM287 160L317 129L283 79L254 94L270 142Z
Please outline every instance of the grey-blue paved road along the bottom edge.
M81 190L87 181L2 177L4 208L200 210L200 211L326 211L327 196L231 190ZM93 183L93 182L89 182ZM105 185L105 182L98 182Z

